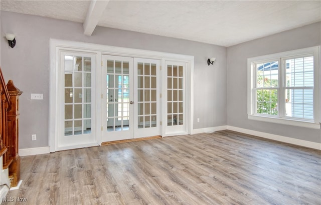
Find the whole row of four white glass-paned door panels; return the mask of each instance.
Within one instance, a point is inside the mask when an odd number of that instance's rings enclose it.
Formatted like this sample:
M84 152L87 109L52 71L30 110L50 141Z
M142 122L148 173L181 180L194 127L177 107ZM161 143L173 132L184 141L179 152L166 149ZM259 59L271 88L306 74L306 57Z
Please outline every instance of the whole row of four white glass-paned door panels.
M100 67L96 54L60 52L55 150L187 133L186 62L101 59Z

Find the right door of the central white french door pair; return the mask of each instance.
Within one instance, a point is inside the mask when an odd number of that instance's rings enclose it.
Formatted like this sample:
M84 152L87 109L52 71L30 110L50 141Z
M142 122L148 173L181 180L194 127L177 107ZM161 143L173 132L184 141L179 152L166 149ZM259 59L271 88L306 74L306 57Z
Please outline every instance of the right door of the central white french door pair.
M161 135L159 60L134 58L134 137Z

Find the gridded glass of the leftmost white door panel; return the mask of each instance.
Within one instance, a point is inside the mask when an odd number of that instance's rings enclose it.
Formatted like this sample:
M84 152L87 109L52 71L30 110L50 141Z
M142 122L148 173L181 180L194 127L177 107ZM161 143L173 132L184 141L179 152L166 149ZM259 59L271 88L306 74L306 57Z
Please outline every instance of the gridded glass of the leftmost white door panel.
M65 136L91 133L91 58L64 55L64 76Z

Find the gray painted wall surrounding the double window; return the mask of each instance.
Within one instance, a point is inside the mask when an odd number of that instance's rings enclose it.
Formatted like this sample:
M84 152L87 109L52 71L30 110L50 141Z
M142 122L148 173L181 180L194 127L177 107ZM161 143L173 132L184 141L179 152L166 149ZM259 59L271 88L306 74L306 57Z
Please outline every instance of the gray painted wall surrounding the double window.
M321 44L321 23L313 23L227 48L227 124L297 139L321 142L320 129L247 118L247 58Z

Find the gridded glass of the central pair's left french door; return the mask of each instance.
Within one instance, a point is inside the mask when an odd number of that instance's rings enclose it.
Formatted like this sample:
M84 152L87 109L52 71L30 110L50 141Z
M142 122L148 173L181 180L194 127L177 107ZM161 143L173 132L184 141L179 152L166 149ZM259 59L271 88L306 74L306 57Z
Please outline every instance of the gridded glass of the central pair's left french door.
M107 132L129 129L129 62L107 60Z

